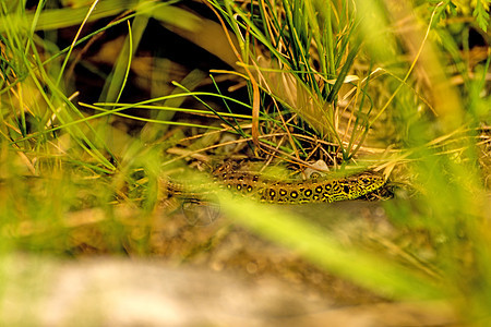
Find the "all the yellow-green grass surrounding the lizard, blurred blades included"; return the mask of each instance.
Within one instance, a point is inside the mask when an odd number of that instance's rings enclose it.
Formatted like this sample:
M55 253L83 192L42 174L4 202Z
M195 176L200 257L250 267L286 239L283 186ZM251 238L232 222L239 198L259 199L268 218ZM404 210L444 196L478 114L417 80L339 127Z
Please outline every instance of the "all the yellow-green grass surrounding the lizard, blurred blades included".
M209 8L201 9L221 17L228 37L217 17L206 20L173 2L108 0L94 12L85 2L70 2L70 9L41 3L26 10L23 1L1 2L2 269L19 251L152 255L156 239L167 241L156 238L158 225L169 223L161 209L163 181L182 173L191 162L185 158L227 156L205 149L225 144L219 135L229 132L231 145L254 149L246 156L270 159L270 152L279 149L276 157L301 167L324 152L333 154L335 166L363 164L416 191L409 197L403 187L383 205L397 233L414 241L396 246L420 266L344 246L301 217L216 190L233 222L374 293L402 301L444 299L460 319L489 324L489 1L474 7L208 1ZM104 27L85 25L96 19L107 19ZM221 93L223 71L212 78L191 71L175 89L169 76L153 73L147 83L153 98L121 102L130 77L148 68L136 50L152 20L229 63L240 77L230 81L247 86L249 102ZM63 48L57 29L68 26L80 26L82 34L74 27ZM111 71L97 71L84 61L89 46L83 47L115 26L123 26L127 37ZM200 44L195 34L213 39L200 26L216 33L224 49ZM471 34L480 40L472 47ZM236 62L227 39L237 47ZM77 102L77 63L104 80L96 104ZM149 65L151 71L169 66L157 59ZM159 78L167 81L166 92ZM193 92L205 80L214 92ZM184 96L194 98L195 108L185 108ZM208 102L230 111L218 113L223 125L196 119L216 113ZM134 108L151 113L130 112ZM120 129L115 118L141 122L141 129ZM321 145L311 146L306 135ZM432 255L424 257L427 249Z

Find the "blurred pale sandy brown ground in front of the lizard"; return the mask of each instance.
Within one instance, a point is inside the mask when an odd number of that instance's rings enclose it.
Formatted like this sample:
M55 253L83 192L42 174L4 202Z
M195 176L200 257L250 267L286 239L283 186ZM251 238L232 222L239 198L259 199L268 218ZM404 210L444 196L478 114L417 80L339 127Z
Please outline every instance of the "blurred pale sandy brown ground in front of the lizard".
M394 233L381 203L288 209L346 242L381 246L385 240L386 246ZM457 326L444 303L383 299L231 225L217 208L188 210L167 203L154 213L151 255L134 250L137 228L125 244L129 256L101 255L105 251L94 249L104 246L104 240L79 228L73 239L85 250L74 259L7 258L3 324Z

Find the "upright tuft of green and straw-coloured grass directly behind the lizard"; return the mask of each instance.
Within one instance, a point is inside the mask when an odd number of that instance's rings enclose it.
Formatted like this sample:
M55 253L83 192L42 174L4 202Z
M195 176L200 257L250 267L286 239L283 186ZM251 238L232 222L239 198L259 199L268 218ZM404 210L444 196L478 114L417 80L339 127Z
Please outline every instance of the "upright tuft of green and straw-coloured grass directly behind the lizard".
M223 7L219 1L209 2L233 31L231 38L239 41L236 51L239 65L251 82L251 96L259 93L259 88L253 87L259 85L274 101L273 111L268 112L264 104L260 106L259 97L251 99L256 108L253 120L260 116L279 116L283 125L278 128L288 132L290 126L285 123L287 118L283 118L283 110L298 114L316 135L334 142L348 161L368 132L367 118L371 111L363 108L363 93L352 95L357 87L344 98L339 96L344 84L358 81L358 89L363 89L367 82L359 76L348 76L359 50L359 43L349 41L357 23L348 7L311 1L260 1L241 7L232 1L225 1ZM339 100L355 101L350 108L356 109L348 110L348 125L339 126L347 110L339 106ZM258 126L253 124L253 135L254 129ZM299 133L304 131L300 129ZM298 145L291 134L288 134L289 143ZM296 156L304 157L298 153Z

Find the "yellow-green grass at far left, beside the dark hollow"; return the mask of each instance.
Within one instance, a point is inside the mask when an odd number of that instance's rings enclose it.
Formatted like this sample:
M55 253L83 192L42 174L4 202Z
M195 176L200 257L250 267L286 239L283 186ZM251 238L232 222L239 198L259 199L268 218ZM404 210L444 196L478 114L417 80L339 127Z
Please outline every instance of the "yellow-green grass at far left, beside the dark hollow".
M147 147L124 135L108 125L108 118L128 109L115 101L124 92L132 52L145 22L155 17L189 29L196 23L192 14L172 3L110 0L75 9L46 9L46 2L39 1L26 10L25 1L1 2L2 249L71 254L77 244L86 243L122 252L128 230L115 204L136 203L145 213L155 206L161 146ZM86 31L87 22L117 13L120 16L106 26ZM130 21L132 25L127 24ZM82 110L83 104L76 102L77 92L71 90L70 65L80 60L82 47L119 24L129 28L127 47L101 93L104 100L113 105L92 106L98 111L88 114ZM58 48L53 31L67 26L79 28L70 46ZM94 240L77 240L81 232L74 229L94 223Z

